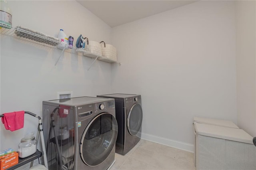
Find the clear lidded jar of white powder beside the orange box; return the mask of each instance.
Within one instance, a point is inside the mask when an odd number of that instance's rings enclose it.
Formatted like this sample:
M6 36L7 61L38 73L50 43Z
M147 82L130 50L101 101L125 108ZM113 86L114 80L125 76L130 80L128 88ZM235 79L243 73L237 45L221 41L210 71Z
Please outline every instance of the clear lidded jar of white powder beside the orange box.
M36 153L36 140L35 136L30 138L22 138L18 144L18 153L20 158L26 158Z

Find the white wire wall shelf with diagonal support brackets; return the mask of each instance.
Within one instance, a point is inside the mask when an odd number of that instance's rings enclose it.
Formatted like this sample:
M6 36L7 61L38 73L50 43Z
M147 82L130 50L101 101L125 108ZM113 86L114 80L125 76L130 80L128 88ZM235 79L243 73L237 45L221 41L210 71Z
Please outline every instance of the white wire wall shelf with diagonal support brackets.
M52 36L47 36L47 35L42 34L40 32L34 32L32 30L29 30L27 28L22 28L20 26L13 27L13 26L9 26L7 24L4 24L4 23L0 22L0 27L2 27L0 29L0 31L1 31L1 34L3 34L3 35L12 36L14 38L18 38L18 39L21 39L21 40L25 40L25 41L29 41L29 42L33 42L33 43L38 43L40 45L45 45L45 46L54 47L54 48L57 48L56 46L58 44L61 44L61 42L58 40L58 38L54 38ZM96 55L94 53L90 53L89 51L86 51L85 49L77 48L77 47L74 47L74 46L69 47L66 44L63 44L63 45L65 45L65 47L64 47L64 49L62 49L62 52L61 52L58 60L56 61L55 65L57 65L57 63L58 63L58 61L59 61L59 59L62 56L62 53L64 51L70 52L70 53L82 53L86 57L94 58L94 61L92 62L90 67L92 67L92 65L94 64L94 62L97 59L100 59L100 61L104 61L104 62L108 62L108 63L118 63L118 64L121 65L120 62L117 62L117 61L114 61L112 59L103 57L101 55ZM88 68L88 70L90 69L90 67Z

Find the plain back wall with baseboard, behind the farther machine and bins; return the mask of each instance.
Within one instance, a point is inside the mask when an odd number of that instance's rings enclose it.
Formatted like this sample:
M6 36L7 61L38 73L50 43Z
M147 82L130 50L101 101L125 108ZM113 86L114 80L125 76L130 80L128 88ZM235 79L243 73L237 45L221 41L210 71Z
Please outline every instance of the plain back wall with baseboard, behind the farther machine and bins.
M193 117L237 120L233 1L199 1L112 30L112 91L139 93L142 137L193 150Z

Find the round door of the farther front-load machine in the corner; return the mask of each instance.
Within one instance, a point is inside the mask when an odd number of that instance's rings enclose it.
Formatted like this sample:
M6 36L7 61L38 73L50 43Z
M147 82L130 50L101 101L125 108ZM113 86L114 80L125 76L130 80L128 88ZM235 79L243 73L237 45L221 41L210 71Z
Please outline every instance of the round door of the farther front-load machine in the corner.
M142 108L140 104L136 103L130 109L128 118L127 118L127 128L129 133L132 136L136 135L139 132L141 123L142 123Z

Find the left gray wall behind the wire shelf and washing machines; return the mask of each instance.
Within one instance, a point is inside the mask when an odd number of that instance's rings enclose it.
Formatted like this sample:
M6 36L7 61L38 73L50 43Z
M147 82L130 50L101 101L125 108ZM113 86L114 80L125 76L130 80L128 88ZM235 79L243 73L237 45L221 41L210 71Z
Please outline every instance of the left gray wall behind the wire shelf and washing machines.
M10 1L13 26L23 26L50 36L60 28L74 41L80 34L110 43L111 28L76 1ZM111 64L1 35L1 113L31 111L42 115L42 101L57 98L58 91L73 97L111 91ZM75 42L74 42L75 44ZM0 125L0 150L18 149L26 132L37 130L38 120L25 115L24 128L10 132Z

